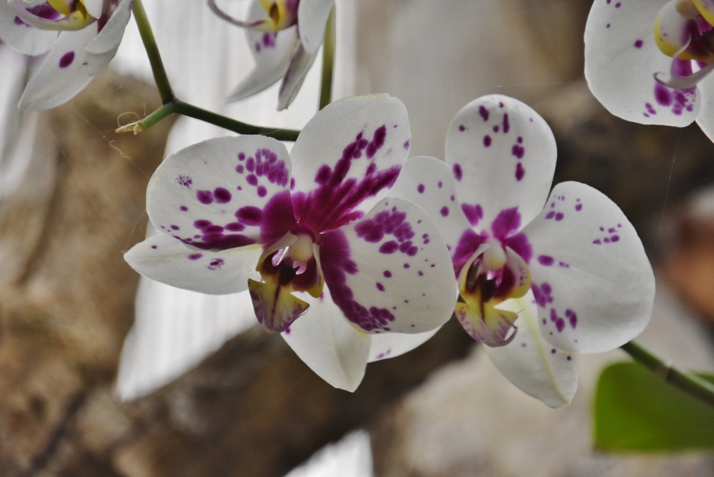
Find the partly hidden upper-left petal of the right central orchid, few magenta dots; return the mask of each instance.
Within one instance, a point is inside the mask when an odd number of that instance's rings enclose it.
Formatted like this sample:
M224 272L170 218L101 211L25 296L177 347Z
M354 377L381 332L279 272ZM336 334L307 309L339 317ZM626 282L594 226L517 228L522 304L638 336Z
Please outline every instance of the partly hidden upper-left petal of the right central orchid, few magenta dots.
M414 202L425 210L452 252L463 232L471 229L469 222L478 225L480 219L478 210L462 210L456 201L451 170L436 158L419 156L407 160L389 195ZM464 212L468 212L468 219Z

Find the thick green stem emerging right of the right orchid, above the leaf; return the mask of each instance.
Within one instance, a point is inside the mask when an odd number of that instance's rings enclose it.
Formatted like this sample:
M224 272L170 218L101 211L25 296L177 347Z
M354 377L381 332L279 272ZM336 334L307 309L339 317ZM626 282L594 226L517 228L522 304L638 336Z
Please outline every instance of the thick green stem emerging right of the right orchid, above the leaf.
M625 343L620 348L666 383L682 389L710 406L714 406L714 385L708 381L677 366L666 363L637 342Z

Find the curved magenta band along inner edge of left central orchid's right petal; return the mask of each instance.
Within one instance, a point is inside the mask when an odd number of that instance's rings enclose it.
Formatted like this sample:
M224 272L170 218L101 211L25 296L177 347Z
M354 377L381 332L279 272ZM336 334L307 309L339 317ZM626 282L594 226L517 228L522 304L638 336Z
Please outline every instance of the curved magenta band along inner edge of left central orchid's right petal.
M345 317L358 327L377 332L386 330L394 321L394 315L386 308L365 305L354 299L354 293L347 284L347 276L358 272L357 264L351 260L348 241L339 230L328 232L321 237L320 258L323 276L332 299Z

